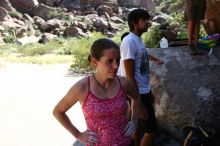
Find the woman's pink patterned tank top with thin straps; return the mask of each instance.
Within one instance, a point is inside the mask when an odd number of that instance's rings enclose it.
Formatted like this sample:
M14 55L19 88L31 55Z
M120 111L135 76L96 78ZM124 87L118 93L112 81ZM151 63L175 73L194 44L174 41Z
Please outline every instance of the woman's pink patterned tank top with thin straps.
M111 99L99 99L90 91L90 77L88 77L89 92L82 106L88 130L98 133L99 143L95 146L128 146L131 137L125 136L126 94L117 77L120 89Z

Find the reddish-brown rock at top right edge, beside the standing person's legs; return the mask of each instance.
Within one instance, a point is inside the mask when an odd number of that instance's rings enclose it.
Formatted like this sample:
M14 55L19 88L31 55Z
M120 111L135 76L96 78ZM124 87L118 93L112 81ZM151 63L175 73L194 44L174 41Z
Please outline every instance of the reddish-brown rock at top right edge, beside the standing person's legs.
M204 28L209 35L220 33L220 1L208 0Z

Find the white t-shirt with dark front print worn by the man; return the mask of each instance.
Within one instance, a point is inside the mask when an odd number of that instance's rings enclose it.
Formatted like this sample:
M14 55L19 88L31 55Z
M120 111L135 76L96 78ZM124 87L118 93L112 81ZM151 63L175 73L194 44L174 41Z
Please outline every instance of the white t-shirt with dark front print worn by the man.
M149 60L146 48L141 38L130 32L126 37L124 37L121 43L120 54L121 60L118 69L118 75L126 77L123 61L126 59L134 59L134 77L138 84L139 94L149 93Z

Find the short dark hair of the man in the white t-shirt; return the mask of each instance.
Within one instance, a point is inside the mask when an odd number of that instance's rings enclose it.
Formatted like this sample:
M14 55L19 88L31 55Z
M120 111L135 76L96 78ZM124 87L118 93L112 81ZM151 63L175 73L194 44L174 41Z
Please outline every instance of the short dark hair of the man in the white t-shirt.
M150 15L147 12L147 10L144 9L134 9L130 11L128 14L128 26L130 28L130 31L134 30L134 24L137 24L140 19L142 20L149 20Z

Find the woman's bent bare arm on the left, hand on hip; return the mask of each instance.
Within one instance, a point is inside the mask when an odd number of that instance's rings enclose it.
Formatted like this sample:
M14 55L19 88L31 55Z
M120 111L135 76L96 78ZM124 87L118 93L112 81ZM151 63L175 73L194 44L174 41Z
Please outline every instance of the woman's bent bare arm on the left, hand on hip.
M97 133L93 131L80 132L70 121L66 112L77 102L84 102L87 94L87 78L77 82L63 97L63 99L55 106L53 115L75 138L84 144L93 145L98 142Z

